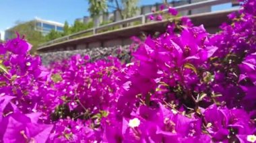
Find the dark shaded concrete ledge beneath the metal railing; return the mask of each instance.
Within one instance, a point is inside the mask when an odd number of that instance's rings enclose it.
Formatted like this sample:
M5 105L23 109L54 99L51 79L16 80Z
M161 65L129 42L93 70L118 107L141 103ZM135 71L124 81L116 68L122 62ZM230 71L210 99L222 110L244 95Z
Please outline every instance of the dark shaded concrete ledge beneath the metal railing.
M209 30L210 33L215 33L219 30L219 26L224 21L230 22L228 21L227 15L233 11L238 11L238 9L200 13L195 15L188 15L187 17L189 17L193 21L195 26L203 24L206 30ZM174 20L179 20L180 18L181 17L176 17L174 18ZM38 48L38 52L59 51L61 50L60 48L63 47L65 47L64 49L67 49L67 47L77 48L77 45L81 44L87 45L86 48L94 48L100 46L117 46L117 44L125 45L131 42L131 40L129 40L131 36L139 36L141 32L144 32L146 34L154 34L154 32L165 32L168 22L169 20L152 21L143 25L141 24L138 26L131 26L118 30L102 32L100 34L95 34L92 36L75 38L72 40L67 40L65 42L59 42L56 44L40 47ZM81 46L79 47L81 48Z

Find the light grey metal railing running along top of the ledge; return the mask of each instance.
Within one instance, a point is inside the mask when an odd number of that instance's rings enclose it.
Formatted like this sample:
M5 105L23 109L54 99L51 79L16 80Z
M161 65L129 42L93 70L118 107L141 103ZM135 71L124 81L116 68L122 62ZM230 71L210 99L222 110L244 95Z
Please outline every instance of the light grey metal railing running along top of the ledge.
M208 1L201 1L201 2L197 2L197 3L191 3L191 4L187 4L187 5L177 6L177 7L175 7L175 9L177 9L177 11L181 12L181 11L188 11L188 10L197 9L197 8L201 8L201 7L210 7L210 6L220 5L220 4L224 4L224 3L230 3L230 2L232 2L232 0L208 0ZM167 13L168 9L164 9L162 12ZM127 25L128 23L135 22L135 21L140 21L141 24L144 24L144 23L148 22L146 19L150 15L156 15L156 13L146 13L144 15L139 15L139 16L136 16L136 17L123 19L121 21L115 21L113 23L108 23L104 26L99 26L99 27L96 27L96 28L91 28L91 29L88 29L88 30L77 32L75 34L71 34L71 35L68 35L68 36L63 36L61 38L51 40L51 41L46 42L44 44L40 44L39 47L55 44L57 42L63 42L65 40L71 40L75 36L82 36L82 34L88 34L88 33L98 34L98 33L100 33L100 30L106 30L108 28L113 28L114 26L122 26L124 24ZM38 48L38 49L40 49L40 48Z

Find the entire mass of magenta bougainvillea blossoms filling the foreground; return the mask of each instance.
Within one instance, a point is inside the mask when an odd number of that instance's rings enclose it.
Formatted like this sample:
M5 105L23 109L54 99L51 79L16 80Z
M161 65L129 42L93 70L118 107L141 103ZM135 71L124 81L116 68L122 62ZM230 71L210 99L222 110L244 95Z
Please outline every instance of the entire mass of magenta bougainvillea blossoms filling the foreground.
M44 67L24 38L0 44L0 142L255 142L255 15L245 1L218 34L183 17L129 63Z

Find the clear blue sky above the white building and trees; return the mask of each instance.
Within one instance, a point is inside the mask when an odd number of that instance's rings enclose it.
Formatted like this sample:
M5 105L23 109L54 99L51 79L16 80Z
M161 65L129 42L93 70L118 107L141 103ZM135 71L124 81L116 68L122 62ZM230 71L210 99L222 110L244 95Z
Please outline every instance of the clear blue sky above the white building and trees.
M141 0L139 5L161 3L162 0ZM0 32L15 25L16 21L29 21L40 17L51 21L69 23L89 15L87 0L0 0Z

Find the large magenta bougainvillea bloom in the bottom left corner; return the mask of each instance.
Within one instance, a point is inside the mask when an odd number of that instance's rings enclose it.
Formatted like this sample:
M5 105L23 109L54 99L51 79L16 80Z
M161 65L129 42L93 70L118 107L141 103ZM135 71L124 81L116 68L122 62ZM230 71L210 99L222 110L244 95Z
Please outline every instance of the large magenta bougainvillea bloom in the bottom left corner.
M38 115L30 115L30 117L22 113L13 113L5 118L3 121L5 125L1 129L5 129L3 142L46 142L53 125L35 123L34 117Z

